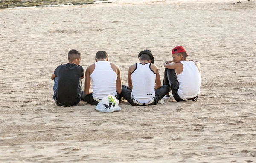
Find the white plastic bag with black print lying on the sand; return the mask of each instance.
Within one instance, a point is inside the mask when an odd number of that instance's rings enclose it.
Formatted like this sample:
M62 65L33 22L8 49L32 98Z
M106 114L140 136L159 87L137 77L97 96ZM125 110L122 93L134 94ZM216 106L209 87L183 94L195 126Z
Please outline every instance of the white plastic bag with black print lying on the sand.
M95 109L99 112L104 112L104 113L117 112L122 109L118 106L118 104L119 104L119 101L116 99L115 96L108 95L102 98L102 100L100 100L100 102L98 103Z

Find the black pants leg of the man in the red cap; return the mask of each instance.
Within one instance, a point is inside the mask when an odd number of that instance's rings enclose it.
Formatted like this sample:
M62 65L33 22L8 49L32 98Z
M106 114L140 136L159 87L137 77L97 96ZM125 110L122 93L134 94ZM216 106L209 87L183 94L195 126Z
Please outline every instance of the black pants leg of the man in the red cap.
M163 84L168 85L172 90L172 96L173 98L179 102L179 101L185 101L180 98L178 94L178 89L180 87L180 83L177 80L177 75L174 69L165 69L164 70L164 78L163 78Z

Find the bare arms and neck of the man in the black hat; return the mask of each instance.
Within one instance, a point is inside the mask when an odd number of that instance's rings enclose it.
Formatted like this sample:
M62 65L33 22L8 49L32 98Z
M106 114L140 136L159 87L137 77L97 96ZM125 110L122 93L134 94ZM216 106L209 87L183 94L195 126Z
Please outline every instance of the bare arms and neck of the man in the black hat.
M140 60L140 63L145 65L146 63L151 63L152 60ZM158 72L158 68L156 65L154 64L151 64L150 65L150 68L151 70L153 70L155 73L156 73L156 80L155 80L155 90L158 89L160 86L161 86L161 79L160 79L160 75L159 75L159 72ZM131 73L136 69L136 64L133 64L129 67L129 70L128 70L128 88L129 89L132 89L132 80L131 80Z

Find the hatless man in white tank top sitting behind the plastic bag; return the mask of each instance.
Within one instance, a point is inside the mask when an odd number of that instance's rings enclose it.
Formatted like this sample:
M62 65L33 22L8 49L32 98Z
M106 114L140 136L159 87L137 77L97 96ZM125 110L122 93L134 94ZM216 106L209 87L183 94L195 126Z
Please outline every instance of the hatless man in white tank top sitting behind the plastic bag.
M85 87L82 91L82 100L97 105L99 101L108 95L121 96L121 72L119 66L108 62L108 54L105 51L98 51L95 56L95 63L88 66L85 71ZM90 83L93 82L93 90Z

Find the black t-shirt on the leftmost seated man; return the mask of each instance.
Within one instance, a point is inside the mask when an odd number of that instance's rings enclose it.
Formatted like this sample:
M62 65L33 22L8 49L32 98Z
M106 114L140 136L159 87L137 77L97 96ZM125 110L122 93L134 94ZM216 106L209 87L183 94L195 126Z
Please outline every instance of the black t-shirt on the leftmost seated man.
M84 76L82 66L67 63L58 66L54 71L55 77L58 77L58 87L56 100L62 105L76 105L81 100L81 92L79 92L79 82ZM81 91L81 89L80 89Z

